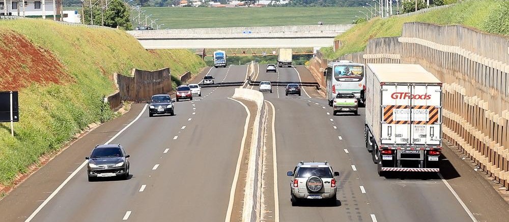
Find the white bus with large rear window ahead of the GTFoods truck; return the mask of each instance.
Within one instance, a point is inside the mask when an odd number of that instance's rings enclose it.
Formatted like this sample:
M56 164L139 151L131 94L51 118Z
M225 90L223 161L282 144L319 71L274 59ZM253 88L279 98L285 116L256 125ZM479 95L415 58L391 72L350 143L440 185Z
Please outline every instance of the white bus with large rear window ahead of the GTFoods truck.
M324 71L329 106L332 106L332 101L337 93L340 92L353 93L355 98L364 105L364 91L366 89L364 72L364 64L354 63L349 60L329 62Z

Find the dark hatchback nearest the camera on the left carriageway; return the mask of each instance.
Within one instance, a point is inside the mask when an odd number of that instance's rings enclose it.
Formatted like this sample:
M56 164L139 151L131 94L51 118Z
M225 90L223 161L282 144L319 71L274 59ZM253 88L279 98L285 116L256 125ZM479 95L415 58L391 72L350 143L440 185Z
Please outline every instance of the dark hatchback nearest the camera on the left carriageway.
M120 144L97 145L90 156L87 164L89 181L98 177L121 177L129 176L129 155Z

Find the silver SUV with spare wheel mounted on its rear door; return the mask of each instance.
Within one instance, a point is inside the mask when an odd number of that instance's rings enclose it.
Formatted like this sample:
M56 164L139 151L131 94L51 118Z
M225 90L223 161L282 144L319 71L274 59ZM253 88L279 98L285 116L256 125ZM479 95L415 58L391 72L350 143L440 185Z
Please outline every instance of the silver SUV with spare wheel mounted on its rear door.
M332 171L327 161L322 163L301 161L293 171L288 171L291 176L290 196L292 206L297 206L301 199L327 199L330 203L336 203L336 180L339 172Z

